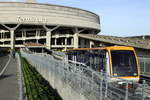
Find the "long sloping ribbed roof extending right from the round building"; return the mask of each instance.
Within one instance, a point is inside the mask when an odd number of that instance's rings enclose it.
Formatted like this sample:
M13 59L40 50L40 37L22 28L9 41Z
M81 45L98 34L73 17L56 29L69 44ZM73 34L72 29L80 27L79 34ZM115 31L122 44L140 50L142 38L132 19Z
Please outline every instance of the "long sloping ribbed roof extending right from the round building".
M125 37L94 35L94 34L79 34L79 37L114 45L125 45L141 49L150 49L150 40L131 39Z

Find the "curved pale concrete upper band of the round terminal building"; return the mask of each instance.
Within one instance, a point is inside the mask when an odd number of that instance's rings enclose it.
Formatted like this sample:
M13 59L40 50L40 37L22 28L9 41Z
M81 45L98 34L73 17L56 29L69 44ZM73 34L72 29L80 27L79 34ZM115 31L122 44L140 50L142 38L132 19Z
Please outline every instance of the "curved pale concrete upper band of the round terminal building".
M0 23L61 25L100 31L99 16L90 11L60 5L0 2Z

